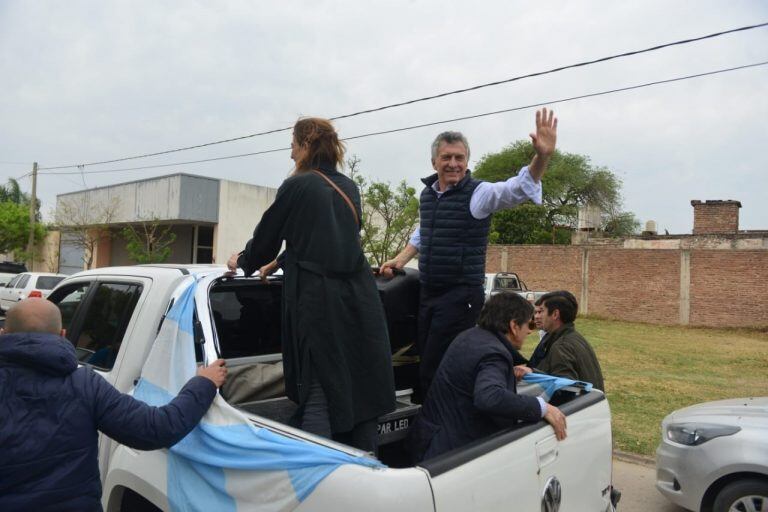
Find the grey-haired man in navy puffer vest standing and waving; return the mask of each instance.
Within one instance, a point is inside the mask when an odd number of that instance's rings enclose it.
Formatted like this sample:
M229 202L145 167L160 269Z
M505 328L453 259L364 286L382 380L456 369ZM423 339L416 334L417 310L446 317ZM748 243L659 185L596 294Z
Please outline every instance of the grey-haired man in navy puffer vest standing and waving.
M472 178L469 143L460 132L443 132L432 143L436 174L422 180L420 223L408 245L381 266L384 275L419 255L418 350L420 394L425 397L453 338L475 325L485 295L485 252L493 212L524 201L541 203L541 177L555 150L557 119L536 112L531 134L536 154L517 176L498 183Z

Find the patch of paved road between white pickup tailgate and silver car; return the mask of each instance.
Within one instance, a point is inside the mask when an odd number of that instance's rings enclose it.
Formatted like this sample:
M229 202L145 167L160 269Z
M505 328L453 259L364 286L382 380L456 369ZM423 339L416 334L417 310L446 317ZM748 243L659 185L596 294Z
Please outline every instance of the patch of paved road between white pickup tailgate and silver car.
M621 491L619 512L687 512L656 490L656 468L613 459L613 485Z

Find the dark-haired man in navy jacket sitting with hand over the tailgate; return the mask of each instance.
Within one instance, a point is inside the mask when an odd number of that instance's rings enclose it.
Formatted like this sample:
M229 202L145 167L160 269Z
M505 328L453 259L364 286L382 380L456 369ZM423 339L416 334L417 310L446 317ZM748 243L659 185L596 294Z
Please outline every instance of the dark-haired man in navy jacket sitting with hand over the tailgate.
M517 394L529 368L515 367L515 353L530 334L533 306L516 293L491 297L477 327L459 334L445 353L413 432L418 460L481 439L505 426L544 418L559 440L565 416L541 398Z

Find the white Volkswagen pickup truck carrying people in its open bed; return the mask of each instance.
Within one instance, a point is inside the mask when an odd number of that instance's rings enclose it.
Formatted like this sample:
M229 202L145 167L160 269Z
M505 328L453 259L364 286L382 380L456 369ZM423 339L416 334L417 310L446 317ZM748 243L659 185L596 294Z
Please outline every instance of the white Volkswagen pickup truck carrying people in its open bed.
M182 284L189 283L190 272L201 276L195 301L197 360L227 360L228 385L234 387L222 390L224 399L259 427L353 456L372 457L288 426L285 418L292 404L281 396L279 382L265 382L251 396L248 389L243 394L247 386L237 386L238 370L272 366L275 371L262 373L280 373L280 277L269 283L242 275L233 278L225 275L224 268L214 266L100 268L67 278L49 299L59 305L67 337L81 362L128 392L142 372L166 312L178 299ZM408 301L392 300L390 288L397 279L417 280L408 274L380 283L383 299L390 302L387 307L384 300L390 337L407 338L415 332L415 318L413 311L403 307ZM413 291L408 286L403 289ZM405 341L393 340L393 352L395 345ZM419 406L409 400L409 381L414 374L403 370L407 366L395 368L397 410L380 419L378 458L386 467L342 465L296 510L615 510L611 502L611 420L603 393L573 388L553 397L552 402L568 416L565 441L558 442L543 421L521 424L414 466L408 455L407 432ZM164 477L167 458L167 450L136 451L102 435L99 466L104 509L170 510Z

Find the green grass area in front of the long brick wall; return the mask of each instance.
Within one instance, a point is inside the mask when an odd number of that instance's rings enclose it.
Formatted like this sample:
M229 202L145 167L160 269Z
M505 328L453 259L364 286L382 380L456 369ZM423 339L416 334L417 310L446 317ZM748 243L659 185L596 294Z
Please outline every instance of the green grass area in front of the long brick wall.
M768 396L768 332L579 318L592 344L611 406L614 447L653 455L661 420L687 405ZM532 334L523 347L530 355Z

